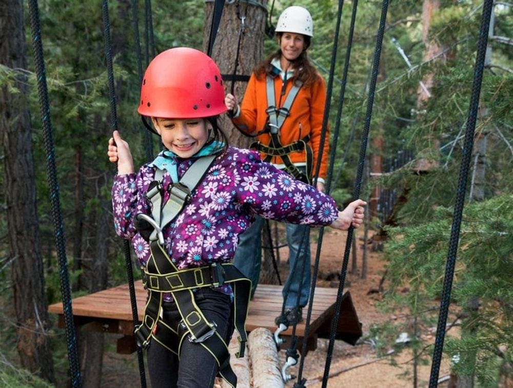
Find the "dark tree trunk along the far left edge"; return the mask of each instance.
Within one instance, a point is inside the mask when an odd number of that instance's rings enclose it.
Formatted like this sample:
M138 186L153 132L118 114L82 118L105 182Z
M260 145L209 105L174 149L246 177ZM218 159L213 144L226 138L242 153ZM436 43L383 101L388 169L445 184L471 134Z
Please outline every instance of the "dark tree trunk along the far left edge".
M0 3L0 61L9 69L27 69L23 2ZM0 133L4 149L5 196L11 279L21 366L55 382L48 338L46 300L36 207L30 116L24 101L27 80L13 73L13 86L0 90Z

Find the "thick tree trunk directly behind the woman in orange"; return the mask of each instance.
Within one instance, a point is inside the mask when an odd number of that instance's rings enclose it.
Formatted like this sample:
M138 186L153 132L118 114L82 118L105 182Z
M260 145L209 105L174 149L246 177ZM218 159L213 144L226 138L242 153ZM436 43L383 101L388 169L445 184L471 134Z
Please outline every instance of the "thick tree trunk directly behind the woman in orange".
M240 15L246 15L246 28L241 38L237 74L250 75L253 68L262 61L266 17L265 6L267 0L258 0L258 3L262 4L262 7L249 4L249 2L239 3ZM213 9L214 2L205 2L205 23L203 25L203 46L205 52L208 47ZM218 34L212 48L212 59L218 64L222 74L233 74L240 31L241 20L237 16L236 2L232 2L232 4L225 2ZM225 81L225 92L230 92L231 84L231 81ZM233 94L241 101L245 90L245 82L236 82ZM220 125L224 129L231 145L243 148L249 145L250 138L235 129L226 115L222 115L220 118Z

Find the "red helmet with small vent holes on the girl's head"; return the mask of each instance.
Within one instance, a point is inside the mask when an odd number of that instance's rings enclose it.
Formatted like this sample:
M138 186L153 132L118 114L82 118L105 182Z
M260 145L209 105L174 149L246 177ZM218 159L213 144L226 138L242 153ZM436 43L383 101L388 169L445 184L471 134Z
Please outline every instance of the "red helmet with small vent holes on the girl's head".
M144 73L137 112L189 119L226 112L221 72L203 52L176 47L155 56Z

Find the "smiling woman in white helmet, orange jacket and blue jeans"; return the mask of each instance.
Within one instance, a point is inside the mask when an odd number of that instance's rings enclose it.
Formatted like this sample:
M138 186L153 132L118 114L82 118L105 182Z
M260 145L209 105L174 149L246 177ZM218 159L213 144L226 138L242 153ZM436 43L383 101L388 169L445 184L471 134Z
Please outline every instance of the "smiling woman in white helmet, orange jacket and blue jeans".
M312 17L303 7L292 6L279 17L276 28L279 48L251 74L242 106L232 94L225 104L233 124L254 136L251 148L261 151L264 161L286 170L295 179L314 183L324 190L327 173L328 142L322 151L321 127L326 101L322 77L310 64L307 49L313 36ZM326 135L328 132L326 132ZM321 159L319 177L312 182L313 166ZM286 195L269 188L269 198ZM235 266L256 284L260 273L260 247L263 219L257 218L240 236ZM285 311L279 317L293 324L302 319L310 287L309 227L287 224L290 274L284 290ZM249 260L248 258L252 258ZM298 264L295 262L299 260ZM293 270L295 268L295 270ZM303 270L304 268L304 270ZM299 298L299 308L297 300ZM277 321L278 323L278 321Z

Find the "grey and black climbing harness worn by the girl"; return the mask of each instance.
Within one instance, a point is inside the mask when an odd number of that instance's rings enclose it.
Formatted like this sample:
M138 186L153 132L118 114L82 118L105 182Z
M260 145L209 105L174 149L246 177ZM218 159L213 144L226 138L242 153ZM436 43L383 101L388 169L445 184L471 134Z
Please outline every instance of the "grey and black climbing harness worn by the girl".
M150 258L142 268L144 287L148 290L144 318L135 327L135 336L143 348L153 339L180 357L182 341L189 335L190 342L199 343L215 358L219 375L235 386L237 378L230 366L230 354L224 339L216 332L215 322L209 322L194 302L193 289L218 287L230 283L233 288L233 320L239 332L239 353L244 357L247 334L245 321L249 304L251 281L231 263L213 263L198 268L178 269L170 260L164 247L162 229L180 214L190 201L191 192L205 175L216 155L197 159L177 183L171 183L169 199L162 204L164 192L162 178L164 171L157 168L154 181L146 193L152 204L152 214L138 214L136 227L143 238L150 243ZM170 327L160 317L164 293L170 293L182 317L177 328Z

